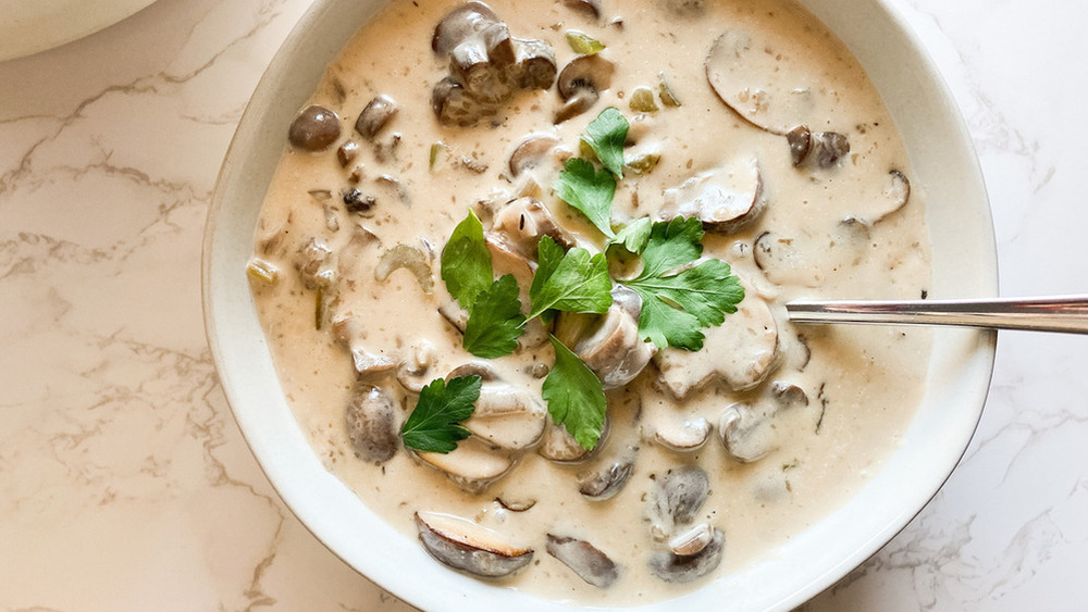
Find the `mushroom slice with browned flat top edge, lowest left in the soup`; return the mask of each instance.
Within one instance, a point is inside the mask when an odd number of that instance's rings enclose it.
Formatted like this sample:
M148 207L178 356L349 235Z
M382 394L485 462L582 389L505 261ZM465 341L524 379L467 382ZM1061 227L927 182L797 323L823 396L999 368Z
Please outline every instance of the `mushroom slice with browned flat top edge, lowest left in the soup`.
M416 528L423 548L440 562L479 576L508 576L533 559L531 548L467 519L438 512L417 512Z

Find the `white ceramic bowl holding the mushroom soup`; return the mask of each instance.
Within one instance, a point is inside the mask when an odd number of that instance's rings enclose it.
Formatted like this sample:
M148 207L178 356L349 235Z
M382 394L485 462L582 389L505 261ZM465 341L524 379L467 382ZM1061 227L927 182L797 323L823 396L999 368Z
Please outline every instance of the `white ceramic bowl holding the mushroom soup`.
M888 0L801 0L881 91L925 186L930 295L997 295L992 224L970 139L939 75ZM318 0L273 59L238 126L208 221L203 302L221 382L242 432L284 501L333 552L425 610L562 610L449 571L381 521L322 466L280 390L245 267L285 126L381 0ZM789 610L861 564L937 492L981 415L996 335L935 333L927 390L901 447L852 500L777 553L645 610ZM640 609L641 610L641 609Z

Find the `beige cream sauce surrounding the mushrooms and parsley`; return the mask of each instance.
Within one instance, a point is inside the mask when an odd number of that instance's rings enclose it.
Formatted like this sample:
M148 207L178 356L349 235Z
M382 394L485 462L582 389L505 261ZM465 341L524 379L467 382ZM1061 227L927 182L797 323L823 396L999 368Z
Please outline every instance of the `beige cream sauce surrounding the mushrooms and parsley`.
M715 576L772 553L819 521L864 486L899 444L920 399L928 335L892 327L795 327L787 321L782 304L798 297L892 299L923 293L929 282L929 251L922 189L916 185L907 205L873 223L867 232L840 223L846 217L877 217L873 211L885 205L889 171L900 170L910 177L910 164L891 117L856 61L821 24L788 0L614 0L604 3L604 15L596 22L561 2L489 4L514 36L547 41L560 70L574 55L565 40L568 29L603 41L607 48L602 55L616 64L611 88L589 112L558 126L552 125L552 116L560 101L552 88L518 95L496 127L443 127L435 121L430 93L446 73L447 62L432 54L431 37L435 24L457 2L393 2L347 46L311 98L311 103L339 114L341 139L321 153L288 148L269 189L256 257L273 263L280 273L274 284L254 283L260 317L284 394L317 452L371 509L407 536L415 538L417 511L465 516L535 550L532 564L500 584L583 602L668 598L692 585L665 584L647 570L648 554L663 545L653 539L645 500L655 478L666 471L700 465L710 476L710 495L695 522L707 522L725 534L726 552L710 574ZM687 14L684 8L691 7L703 7L705 12ZM621 24L613 23L616 16L622 17ZM791 70L800 66L809 79L809 112L824 122L811 122L809 127L836 130L850 140L851 153L837 167L794 167L784 137L741 118L710 89L704 58L731 27L766 33ZM628 105L631 91L640 86L656 91L659 74L682 105L668 108L658 100L659 111L635 116ZM376 138L381 146L374 147L351 126L379 93L395 99L399 113ZM651 365L626 389L609 392L610 432L593 459L565 465L530 450L518 454L509 473L480 494L463 491L404 450L381 465L358 460L344 416L356 376L350 354L334 338L332 320L354 315L363 344L376 355L431 360L425 380L473 361L437 310L450 301L437 278L438 252L470 207L480 201L502 204L516 195L507 158L526 135L553 134L577 150L586 123L608 105L632 121L638 141L628 148L629 160L647 151L660 154L652 172L628 173L620 180L614 203L617 223L656 214L666 190L701 173L720 174L752 160L757 163L766 210L734 235L707 234L705 254L733 266L747 291L746 302L769 304L778 330L777 357L768 360L772 372L747 391L732 390L712 376L679 401L659 384L658 369ZM399 137L396 143L395 137ZM345 168L335 151L348 139L361 146L359 158ZM432 167L436 142L443 147L436 149ZM351 185L348 175L358 166L362 167L359 188L376 198L375 214L368 218L348 214L339 203L341 191ZM398 185L383 182L383 175ZM542 184L549 185L552 177L554 168ZM589 225L546 191L543 200L577 230L579 242L599 249ZM356 226L366 227L376 240L349 246ZM786 272L765 273L756 265L755 242L766 232L780 240L776 255L789 251ZM311 238L327 245L338 262L335 291L323 296L320 329L314 325L314 292L302 286L292 263ZM433 250L433 292L425 292L407 270L375 280L379 255L399 243ZM696 357L704 370L707 363L727 361L715 354ZM549 365L552 360L545 344L495 364L507 379L539 394L541 379L531 375L532 366ZM776 380L803 389L808 407L783 412L771 433L776 449L763 459L741 463L728 457L717 433L722 409L767 396ZM415 395L390 386L403 419ZM657 428L682 427L701 416L715 432L698 450L678 452L654 441ZM634 472L619 494L592 501L578 492L580 472L627 455L634 458ZM514 512L495 501L499 498L535 503ZM592 542L621 565L619 582L601 589L578 578L545 552L548 533ZM705 579L694 586L700 584Z

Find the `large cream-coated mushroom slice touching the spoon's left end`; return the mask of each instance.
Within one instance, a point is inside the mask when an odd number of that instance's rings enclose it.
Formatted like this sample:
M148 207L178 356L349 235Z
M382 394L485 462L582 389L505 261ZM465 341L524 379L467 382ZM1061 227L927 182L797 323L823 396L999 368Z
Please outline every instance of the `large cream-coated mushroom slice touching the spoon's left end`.
M703 334L700 351L666 348L654 357L662 384L677 399L712 380L737 391L751 389L778 361L778 323L767 302L754 293L746 295L721 325L707 327Z

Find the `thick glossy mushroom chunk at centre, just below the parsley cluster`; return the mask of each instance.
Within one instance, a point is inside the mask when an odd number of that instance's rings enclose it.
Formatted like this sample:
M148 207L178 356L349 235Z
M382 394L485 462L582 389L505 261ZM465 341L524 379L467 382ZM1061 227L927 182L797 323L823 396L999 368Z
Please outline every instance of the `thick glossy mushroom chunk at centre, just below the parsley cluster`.
M639 335L642 298L618 284L611 295L613 304L605 314L562 312L556 323L556 336L571 347L606 389L633 380L657 352L656 346Z

